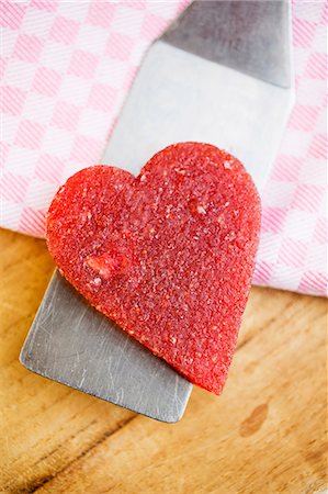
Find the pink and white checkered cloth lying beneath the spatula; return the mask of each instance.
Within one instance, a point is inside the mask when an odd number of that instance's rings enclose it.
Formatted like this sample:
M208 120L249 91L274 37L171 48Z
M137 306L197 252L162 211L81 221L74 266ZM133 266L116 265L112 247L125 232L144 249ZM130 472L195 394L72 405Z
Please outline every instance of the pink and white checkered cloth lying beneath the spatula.
M143 55L189 0L1 3L1 225L44 235L63 181L99 161ZM327 290L327 3L293 5L296 105L262 194L255 283Z

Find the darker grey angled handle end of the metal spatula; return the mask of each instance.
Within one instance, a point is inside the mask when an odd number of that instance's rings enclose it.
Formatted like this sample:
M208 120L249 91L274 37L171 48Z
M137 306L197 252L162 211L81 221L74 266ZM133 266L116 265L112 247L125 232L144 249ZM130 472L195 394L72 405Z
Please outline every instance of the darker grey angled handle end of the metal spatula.
M289 0L194 1L162 41L268 82L291 86Z

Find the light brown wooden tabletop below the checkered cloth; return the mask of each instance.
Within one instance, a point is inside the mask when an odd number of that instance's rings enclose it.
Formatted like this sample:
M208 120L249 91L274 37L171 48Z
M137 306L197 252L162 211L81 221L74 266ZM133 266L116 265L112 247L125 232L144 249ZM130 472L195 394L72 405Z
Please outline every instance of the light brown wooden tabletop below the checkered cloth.
M224 394L160 424L26 371L54 265L0 232L1 493L315 493L326 487L326 301L253 288Z

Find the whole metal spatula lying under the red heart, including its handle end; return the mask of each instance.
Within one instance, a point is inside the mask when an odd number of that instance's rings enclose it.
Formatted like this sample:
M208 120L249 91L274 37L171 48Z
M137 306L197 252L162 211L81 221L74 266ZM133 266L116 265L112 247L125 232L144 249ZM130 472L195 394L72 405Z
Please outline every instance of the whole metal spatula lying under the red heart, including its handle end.
M196 1L148 50L102 162L138 173L181 141L244 161L261 189L293 90L290 7ZM56 272L21 352L27 369L165 422L181 418L192 385L89 304Z

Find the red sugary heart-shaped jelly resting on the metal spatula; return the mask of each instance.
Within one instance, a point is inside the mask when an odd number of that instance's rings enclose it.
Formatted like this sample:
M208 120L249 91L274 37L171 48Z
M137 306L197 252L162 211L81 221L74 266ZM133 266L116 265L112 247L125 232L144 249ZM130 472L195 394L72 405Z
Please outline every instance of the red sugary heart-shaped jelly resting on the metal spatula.
M214 146L182 143L135 178L79 171L47 215L64 277L191 382L219 394L247 302L260 228L249 175Z

